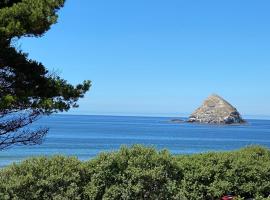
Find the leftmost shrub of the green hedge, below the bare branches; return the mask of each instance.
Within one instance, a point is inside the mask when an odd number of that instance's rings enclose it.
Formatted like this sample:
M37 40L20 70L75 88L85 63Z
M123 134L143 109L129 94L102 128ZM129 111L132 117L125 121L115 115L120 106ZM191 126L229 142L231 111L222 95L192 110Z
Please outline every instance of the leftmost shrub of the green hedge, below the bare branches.
M0 173L1 200L82 199L83 168L75 158L31 158Z

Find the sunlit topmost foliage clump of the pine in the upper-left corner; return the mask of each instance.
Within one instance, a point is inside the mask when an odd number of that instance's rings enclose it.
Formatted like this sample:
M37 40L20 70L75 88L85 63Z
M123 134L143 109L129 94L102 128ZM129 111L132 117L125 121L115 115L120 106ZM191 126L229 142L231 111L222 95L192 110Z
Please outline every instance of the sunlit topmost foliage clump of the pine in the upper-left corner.
M64 0L1 0L0 36L41 36L57 21Z

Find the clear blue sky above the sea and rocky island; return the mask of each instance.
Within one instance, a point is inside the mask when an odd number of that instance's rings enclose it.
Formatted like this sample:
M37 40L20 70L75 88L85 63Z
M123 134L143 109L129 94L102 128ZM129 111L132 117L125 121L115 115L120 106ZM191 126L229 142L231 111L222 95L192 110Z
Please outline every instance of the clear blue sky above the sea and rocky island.
M67 0L59 22L20 48L93 87L76 114L191 113L217 93L270 116L269 0Z

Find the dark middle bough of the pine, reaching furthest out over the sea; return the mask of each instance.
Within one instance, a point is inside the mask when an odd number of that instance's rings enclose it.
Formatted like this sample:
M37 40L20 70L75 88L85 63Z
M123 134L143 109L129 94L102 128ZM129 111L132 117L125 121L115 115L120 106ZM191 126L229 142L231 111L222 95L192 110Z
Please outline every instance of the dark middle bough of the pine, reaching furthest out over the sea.
M58 76L50 75L45 67L28 60L27 55L15 48L0 49L0 111L38 110L50 114L67 111L83 97L90 82L72 86ZM12 67L8 67L12 66Z

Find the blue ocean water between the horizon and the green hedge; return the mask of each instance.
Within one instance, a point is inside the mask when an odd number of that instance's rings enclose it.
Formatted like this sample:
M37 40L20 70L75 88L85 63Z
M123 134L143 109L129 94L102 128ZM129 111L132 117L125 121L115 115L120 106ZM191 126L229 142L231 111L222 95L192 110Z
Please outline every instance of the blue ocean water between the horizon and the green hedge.
M49 127L42 145L0 151L0 167L31 156L64 154L81 160L121 145L143 144L169 149L173 154L226 151L248 145L270 147L270 120L248 120L245 125L171 123L168 117L53 115L34 126Z

